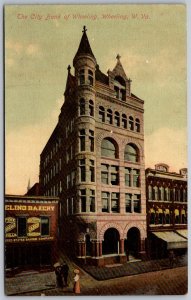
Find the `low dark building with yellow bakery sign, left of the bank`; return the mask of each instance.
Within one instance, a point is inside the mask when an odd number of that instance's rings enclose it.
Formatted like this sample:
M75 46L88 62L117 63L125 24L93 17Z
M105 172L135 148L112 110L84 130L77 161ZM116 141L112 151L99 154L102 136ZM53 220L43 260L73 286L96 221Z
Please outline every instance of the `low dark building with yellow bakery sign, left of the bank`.
M51 266L57 259L57 197L5 196L5 269Z

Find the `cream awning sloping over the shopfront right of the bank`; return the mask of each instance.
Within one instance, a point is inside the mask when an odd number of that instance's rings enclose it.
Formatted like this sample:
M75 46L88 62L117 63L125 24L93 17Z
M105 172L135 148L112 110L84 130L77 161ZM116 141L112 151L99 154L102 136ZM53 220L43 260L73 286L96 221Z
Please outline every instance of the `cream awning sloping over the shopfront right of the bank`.
M153 234L167 243L167 249L184 249L188 247L187 239L174 231L158 231Z

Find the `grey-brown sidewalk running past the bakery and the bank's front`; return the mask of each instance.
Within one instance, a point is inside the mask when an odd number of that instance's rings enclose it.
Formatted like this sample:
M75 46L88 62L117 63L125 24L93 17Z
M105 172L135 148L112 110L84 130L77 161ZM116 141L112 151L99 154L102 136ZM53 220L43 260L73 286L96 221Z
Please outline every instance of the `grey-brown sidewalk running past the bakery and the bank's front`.
M69 287L64 289L56 288L56 280L54 272L37 273L37 272L22 272L15 277L5 278L5 294L6 295L19 295L25 293L39 292L40 294L47 294L54 290L56 295L74 295L73 293L73 270L79 268L75 263L70 261L64 255L61 256L69 265ZM184 258L177 258L174 267L186 266L187 261ZM130 276L146 272L159 271L169 268L169 260L152 260L152 261L136 261L127 262L124 265L113 265L110 267L95 267L83 266L80 269L80 284L82 290L93 288L99 285L100 280L107 280L122 276ZM94 278L93 278L94 277ZM98 281L99 280L99 281Z

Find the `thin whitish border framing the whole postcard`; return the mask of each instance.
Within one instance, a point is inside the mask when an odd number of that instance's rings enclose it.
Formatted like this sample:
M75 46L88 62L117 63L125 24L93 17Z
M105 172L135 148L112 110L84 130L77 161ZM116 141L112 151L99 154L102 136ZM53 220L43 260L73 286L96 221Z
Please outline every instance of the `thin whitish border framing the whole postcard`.
M25 0L25 1L19 1L19 0L12 0L12 1L1 1L0 2L0 21L1 21L1 31L0 31L0 65L3 66L3 6L5 4L186 4L187 5L187 70L188 70L188 132L191 132L191 118L189 117L191 114L191 103L190 103L190 97L191 97L191 87L190 87L190 79L191 79L191 41L190 41L190 37L191 37L191 1L190 0L185 0L185 1L177 1L177 0L168 0L168 1L143 1L143 0L121 0L121 1L117 1L117 0L91 0L91 1L86 1L86 0L62 0L59 1L57 0L56 2L53 0L41 0L41 1L37 1L37 0ZM5 299L6 296L4 295L4 90L3 90L3 68L1 69L1 75L0 75L0 91L1 91L1 101L0 101L0 166L1 170L0 170L0 241L1 241L1 245L2 245L2 251L0 254L0 299ZM190 206L191 203L189 203L189 199L191 198L191 191L190 191L190 180L191 180L191 174L190 174L190 167L191 167L191 145L190 145L190 135L188 134L188 182L189 182L189 189L188 189L188 211L190 212ZM189 214L190 215L190 214ZM188 232L189 232L189 242L188 242L188 247L190 249L190 222L188 222ZM191 281L190 281L190 276L191 276L191 272L190 272L190 251L189 251L189 255L188 255L188 259L189 259L189 268L188 268L188 294L184 295L184 296L179 296L179 295L175 295L175 296L162 296L163 299L169 299L169 298L177 298L178 300L182 300L182 299L190 299L191 297L191 292L190 292L190 287L191 287ZM149 296L149 295L148 295ZM30 296L31 297L31 296ZM33 297L33 296L32 296ZM67 299L70 299L71 296L64 296ZM101 296L103 298L108 298L108 296ZM130 295L126 295L126 296L115 296L115 299L120 299L121 297L128 297L128 299L132 299L135 296L130 296ZM161 296L152 296L154 298L160 298ZM27 297L22 296L22 299L26 299ZM34 297L33 297L34 298ZM37 297L35 297L37 298ZM94 296L94 298L100 298L100 296ZM58 296L55 297L51 297L49 296L49 299L58 299ZM86 296L86 299L92 299L92 296ZM144 296L136 296L136 299L145 299Z

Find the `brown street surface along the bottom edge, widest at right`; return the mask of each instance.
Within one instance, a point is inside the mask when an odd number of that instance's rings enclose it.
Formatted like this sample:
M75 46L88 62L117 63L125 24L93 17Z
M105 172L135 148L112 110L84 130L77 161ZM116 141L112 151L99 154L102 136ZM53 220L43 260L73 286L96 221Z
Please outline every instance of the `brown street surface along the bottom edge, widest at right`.
M81 295L184 295L187 293L187 267L166 269L134 276L97 281L88 276L81 282ZM50 289L24 295L74 295L72 282L64 290ZM20 294L21 295L21 294Z

